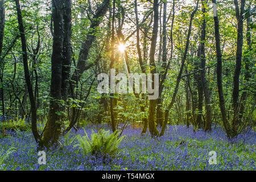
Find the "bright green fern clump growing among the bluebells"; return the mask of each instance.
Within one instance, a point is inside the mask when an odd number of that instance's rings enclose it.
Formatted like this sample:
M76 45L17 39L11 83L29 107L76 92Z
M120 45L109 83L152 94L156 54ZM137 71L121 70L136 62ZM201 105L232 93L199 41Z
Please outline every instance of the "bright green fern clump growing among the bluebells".
M121 143L122 139L118 138L120 131L115 131L114 133L110 134L110 131L100 130L98 133L95 133L92 130L91 139L89 139L86 131L84 130L85 136L81 137L80 135L77 136L79 144L75 146L79 146L83 151L84 154L92 154L92 155L103 155L106 158L106 155L114 156L117 153L119 144Z

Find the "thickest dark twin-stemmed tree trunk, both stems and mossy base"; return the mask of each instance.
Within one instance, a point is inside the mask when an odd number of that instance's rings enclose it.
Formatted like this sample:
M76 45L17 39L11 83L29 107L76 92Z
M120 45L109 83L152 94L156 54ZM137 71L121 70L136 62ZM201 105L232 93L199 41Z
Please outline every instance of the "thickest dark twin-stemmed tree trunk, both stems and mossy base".
M52 0L53 50L49 115L44 130L46 147L57 145L63 130L63 102L71 64L71 0Z

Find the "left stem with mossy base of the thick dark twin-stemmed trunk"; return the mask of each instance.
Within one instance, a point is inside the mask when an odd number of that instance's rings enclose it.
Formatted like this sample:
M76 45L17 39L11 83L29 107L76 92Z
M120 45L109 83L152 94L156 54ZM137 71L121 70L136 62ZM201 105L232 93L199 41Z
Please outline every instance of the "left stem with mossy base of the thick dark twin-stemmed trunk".
M44 130L43 141L49 147L57 144L61 134L61 84L63 73L63 1L52 0L53 46L52 46L52 75L49 103L49 116Z

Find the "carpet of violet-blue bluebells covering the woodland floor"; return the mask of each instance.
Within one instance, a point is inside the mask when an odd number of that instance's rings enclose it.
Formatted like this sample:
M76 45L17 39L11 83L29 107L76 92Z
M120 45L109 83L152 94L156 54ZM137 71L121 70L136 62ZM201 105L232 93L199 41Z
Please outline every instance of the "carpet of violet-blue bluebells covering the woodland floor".
M105 125L86 127L90 136L92 128L109 129ZM220 126L209 133L193 132L185 126L168 126L163 137L151 138L147 133L141 137L141 129L128 127L122 133L126 137L112 159L84 155L78 147L72 130L61 138L63 147L46 152L46 164L38 164L36 143L31 132L9 131L0 136L0 156L10 147L17 150L0 166L0 170L255 170L256 133L239 135L232 141L226 138ZM72 140L73 139L73 140ZM73 142L72 142L73 141ZM211 152L210 151L215 151ZM214 154L216 154L214 156ZM216 157L217 164L209 159ZM210 160L212 161L212 160Z

